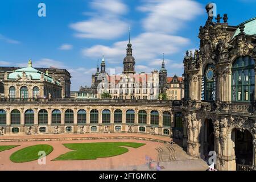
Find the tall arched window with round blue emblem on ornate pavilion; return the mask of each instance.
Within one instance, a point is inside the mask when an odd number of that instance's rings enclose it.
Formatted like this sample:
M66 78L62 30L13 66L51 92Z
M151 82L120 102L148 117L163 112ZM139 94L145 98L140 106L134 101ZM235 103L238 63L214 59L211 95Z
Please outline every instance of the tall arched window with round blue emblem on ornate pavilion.
M216 98L216 75L213 64L208 64L202 77L201 100L215 101Z

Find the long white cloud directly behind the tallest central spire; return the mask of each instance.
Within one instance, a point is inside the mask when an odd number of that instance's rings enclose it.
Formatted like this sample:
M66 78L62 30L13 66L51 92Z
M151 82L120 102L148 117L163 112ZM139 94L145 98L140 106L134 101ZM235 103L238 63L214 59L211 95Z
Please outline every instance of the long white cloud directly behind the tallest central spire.
M133 38L131 43L134 45L133 56L137 63L143 61L148 64L158 57L162 57L162 52L166 55L178 52L181 47L189 43L189 39L180 36L146 32ZM82 55L95 59L98 55L104 54L106 61L110 61L110 63L117 61L120 63L126 55L126 44L127 41L116 42L111 47L96 45L82 49Z

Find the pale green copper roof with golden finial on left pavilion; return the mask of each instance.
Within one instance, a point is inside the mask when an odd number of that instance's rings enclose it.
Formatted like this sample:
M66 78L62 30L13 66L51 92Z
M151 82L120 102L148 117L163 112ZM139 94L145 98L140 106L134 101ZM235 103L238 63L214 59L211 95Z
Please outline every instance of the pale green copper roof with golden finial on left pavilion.
M10 73L8 76L8 79L10 80L16 80L18 77L22 77L23 73L26 74L26 76L30 77L31 80L40 80L41 75L44 76L44 80L48 82L53 82L53 78L49 75L46 75L46 73L40 72L35 68L32 68L32 62L28 61L28 67L26 68L20 68L16 69L13 73ZM57 85L60 85L60 82L56 81Z

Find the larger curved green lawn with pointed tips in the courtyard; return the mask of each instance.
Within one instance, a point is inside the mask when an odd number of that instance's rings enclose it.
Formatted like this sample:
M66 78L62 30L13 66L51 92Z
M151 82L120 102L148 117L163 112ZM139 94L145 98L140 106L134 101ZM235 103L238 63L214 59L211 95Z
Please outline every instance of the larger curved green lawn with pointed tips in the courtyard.
M138 148L144 143L132 142L100 142L100 143L69 143L63 144L70 152L60 155L54 160L89 160L97 158L109 158L128 152L126 147Z

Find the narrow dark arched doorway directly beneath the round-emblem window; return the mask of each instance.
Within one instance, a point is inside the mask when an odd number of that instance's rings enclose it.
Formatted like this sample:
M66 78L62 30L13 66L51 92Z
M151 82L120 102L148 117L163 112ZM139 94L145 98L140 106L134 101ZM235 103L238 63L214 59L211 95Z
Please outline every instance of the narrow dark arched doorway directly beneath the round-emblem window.
M212 119L205 119L203 130L203 147L201 146L201 158L207 159L210 151L214 149L214 126Z

